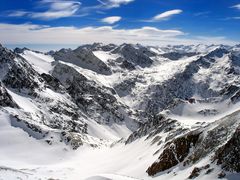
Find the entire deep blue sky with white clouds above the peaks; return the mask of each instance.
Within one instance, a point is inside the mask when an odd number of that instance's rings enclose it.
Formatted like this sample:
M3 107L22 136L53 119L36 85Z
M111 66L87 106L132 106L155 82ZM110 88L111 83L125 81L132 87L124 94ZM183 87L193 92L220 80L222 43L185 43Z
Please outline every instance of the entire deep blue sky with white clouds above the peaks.
M5 45L236 44L239 0L1 0Z

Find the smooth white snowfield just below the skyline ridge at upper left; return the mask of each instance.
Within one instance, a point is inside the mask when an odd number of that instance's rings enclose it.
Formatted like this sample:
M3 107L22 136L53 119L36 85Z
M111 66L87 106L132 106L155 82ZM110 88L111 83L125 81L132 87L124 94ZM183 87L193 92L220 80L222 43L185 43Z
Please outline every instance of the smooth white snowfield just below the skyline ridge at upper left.
M21 54L21 56L25 58L33 66L35 71L40 74L49 74L50 71L53 69L52 63L55 60L50 55L25 50L24 53Z

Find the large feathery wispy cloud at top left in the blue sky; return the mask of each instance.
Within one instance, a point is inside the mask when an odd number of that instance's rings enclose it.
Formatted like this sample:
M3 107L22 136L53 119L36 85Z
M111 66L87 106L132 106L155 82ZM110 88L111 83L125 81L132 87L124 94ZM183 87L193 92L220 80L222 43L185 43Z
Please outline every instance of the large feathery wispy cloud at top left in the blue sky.
M59 19L76 15L80 5L81 3L79 1L74 0L41 0L38 3L38 7L47 7L45 11L30 12L17 10L10 12L8 15L11 17L26 16L43 20Z

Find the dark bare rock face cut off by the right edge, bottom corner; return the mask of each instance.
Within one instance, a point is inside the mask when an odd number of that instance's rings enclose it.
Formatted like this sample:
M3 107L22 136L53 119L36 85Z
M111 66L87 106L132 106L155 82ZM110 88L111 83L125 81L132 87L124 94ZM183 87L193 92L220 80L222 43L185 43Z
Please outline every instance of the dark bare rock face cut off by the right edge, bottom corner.
M240 172L240 126L231 139L216 151L214 160L227 171Z

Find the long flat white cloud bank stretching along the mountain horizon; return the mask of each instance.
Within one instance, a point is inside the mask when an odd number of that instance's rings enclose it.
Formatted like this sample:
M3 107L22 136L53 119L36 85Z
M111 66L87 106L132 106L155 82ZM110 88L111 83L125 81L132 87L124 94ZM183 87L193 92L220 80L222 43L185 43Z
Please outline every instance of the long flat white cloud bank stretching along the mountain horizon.
M0 24L0 39L3 44L87 44L141 43L145 45L166 44L237 44L225 37L195 37L179 30L162 30L155 27L138 29L115 29L101 27L50 27L33 24Z

